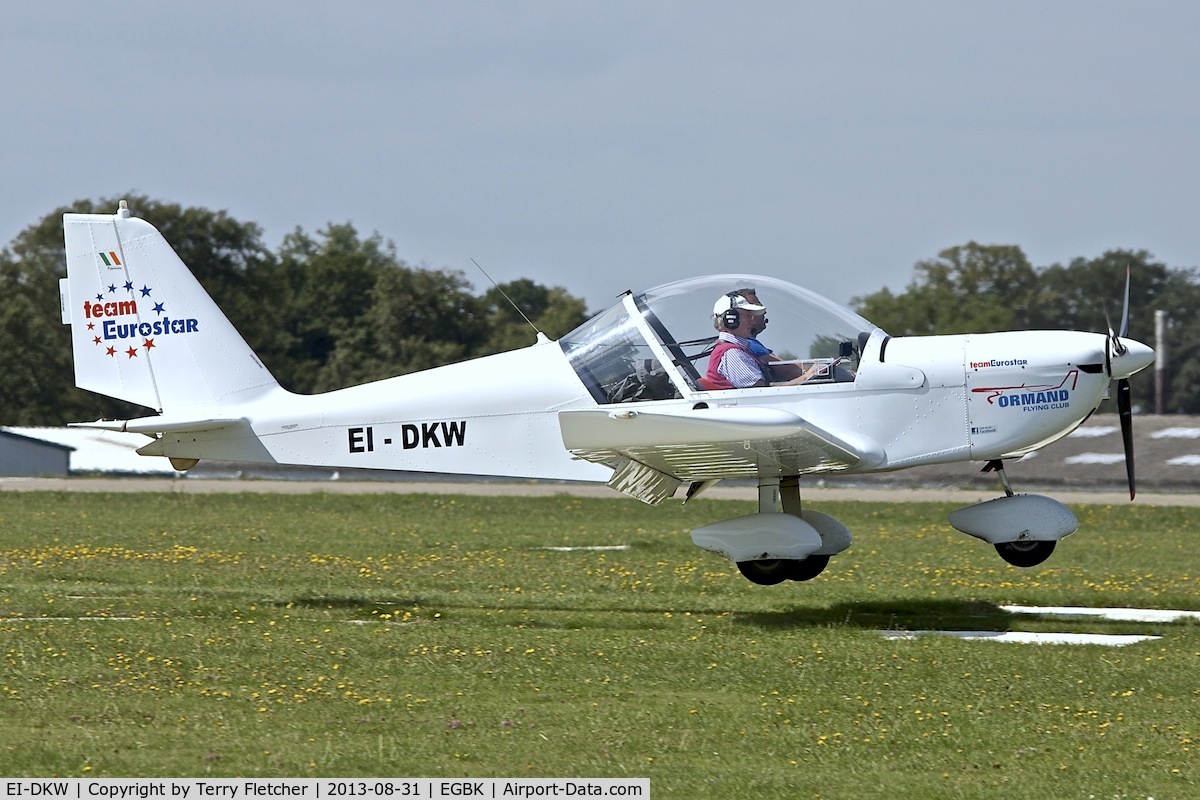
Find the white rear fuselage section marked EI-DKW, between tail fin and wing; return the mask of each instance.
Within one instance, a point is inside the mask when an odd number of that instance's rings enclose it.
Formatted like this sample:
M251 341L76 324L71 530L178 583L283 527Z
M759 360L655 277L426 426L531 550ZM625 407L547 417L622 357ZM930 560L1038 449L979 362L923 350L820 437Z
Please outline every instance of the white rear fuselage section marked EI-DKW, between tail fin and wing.
M594 402L562 349L535 344L323 395L275 389L229 409L246 431L162 437L174 458L606 481L563 449L557 413ZM222 410L214 410L221 416Z

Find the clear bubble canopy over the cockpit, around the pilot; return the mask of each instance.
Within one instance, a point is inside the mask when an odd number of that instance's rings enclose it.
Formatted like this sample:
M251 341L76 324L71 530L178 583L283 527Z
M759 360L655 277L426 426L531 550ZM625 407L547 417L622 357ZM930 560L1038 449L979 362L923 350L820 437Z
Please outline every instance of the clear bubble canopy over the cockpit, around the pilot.
M757 338L775 356L826 361L839 366L828 380L853 379L859 337L876 326L814 291L761 275L710 275L625 294L559 345L599 403L679 398L700 390L708 368L714 303L744 289L754 289L767 308Z

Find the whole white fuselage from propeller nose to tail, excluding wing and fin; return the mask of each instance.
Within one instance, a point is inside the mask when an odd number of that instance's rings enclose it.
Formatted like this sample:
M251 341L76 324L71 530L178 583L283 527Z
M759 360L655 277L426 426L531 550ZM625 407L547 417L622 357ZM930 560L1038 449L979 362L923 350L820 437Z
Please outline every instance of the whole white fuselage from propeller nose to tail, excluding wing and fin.
M1104 398L1105 337L1073 331L872 339L853 381L694 391L605 407L784 409L882 453L848 471L1015 457L1066 435ZM882 361L880 360L882 350ZM164 433L146 453L371 469L606 481L572 458L558 413L598 408L562 349L541 343L319 396L274 390L242 403L245 431ZM725 459L685 480L755 476ZM787 473L786 465L780 467ZM802 471L821 471L820 468Z

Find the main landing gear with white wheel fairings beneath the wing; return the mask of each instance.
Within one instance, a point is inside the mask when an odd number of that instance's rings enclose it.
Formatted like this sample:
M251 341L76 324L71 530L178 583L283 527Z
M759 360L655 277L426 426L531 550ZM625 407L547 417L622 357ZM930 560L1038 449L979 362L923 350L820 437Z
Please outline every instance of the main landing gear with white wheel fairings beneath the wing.
M730 559L748 581L763 587L811 581L829 565L830 555L852 541L850 530L829 515L802 511L798 477L761 481L758 513L697 528L691 540Z

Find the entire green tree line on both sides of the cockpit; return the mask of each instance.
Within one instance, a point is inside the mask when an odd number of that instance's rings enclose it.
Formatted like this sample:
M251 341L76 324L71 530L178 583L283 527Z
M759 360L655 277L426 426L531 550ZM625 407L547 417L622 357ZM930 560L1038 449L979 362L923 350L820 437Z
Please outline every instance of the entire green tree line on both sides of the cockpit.
M476 294L462 272L414 267L379 234L329 223L296 228L276 249L262 229L224 211L128 197L158 228L287 389L319 392L533 343L512 301L551 338L582 324L584 301L563 287L517 279ZM66 275L62 213L112 213L116 199L56 209L0 251L0 425L62 425L130 417L144 409L74 387L70 329L60 323ZM1133 273L1129 336L1153 345L1153 312L1170 317L1165 410L1200 413L1200 279L1146 251L1115 249L1034 267L1020 247L966 245L918 261L905 291L852 306L893 336L997 330L1104 331L1120 324L1126 267ZM1134 402L1154 408L1150 372Z

